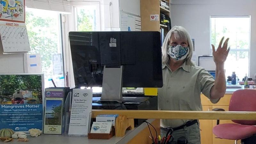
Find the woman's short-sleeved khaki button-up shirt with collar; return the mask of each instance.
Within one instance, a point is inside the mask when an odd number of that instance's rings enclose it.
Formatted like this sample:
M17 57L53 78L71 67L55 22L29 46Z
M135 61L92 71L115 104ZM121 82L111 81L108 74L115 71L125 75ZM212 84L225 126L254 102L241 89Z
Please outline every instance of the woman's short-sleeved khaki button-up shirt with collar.
M201 92L210 99L213 76L202 67L185 63L174 72L169 66L163 65L164 85L158 89L159 110L202 110ZM217 103L220 99L210 100ZM161 119L161 126L177 127L187 121L189 120Z

